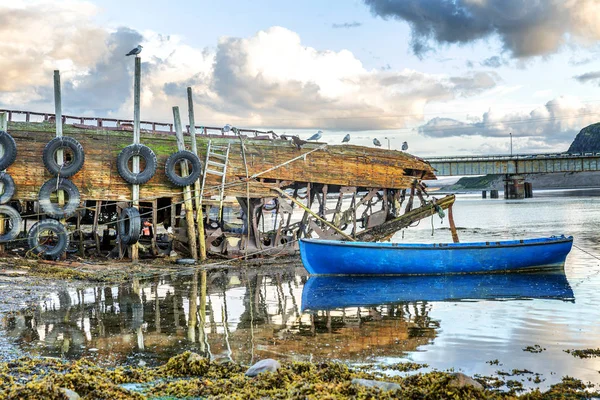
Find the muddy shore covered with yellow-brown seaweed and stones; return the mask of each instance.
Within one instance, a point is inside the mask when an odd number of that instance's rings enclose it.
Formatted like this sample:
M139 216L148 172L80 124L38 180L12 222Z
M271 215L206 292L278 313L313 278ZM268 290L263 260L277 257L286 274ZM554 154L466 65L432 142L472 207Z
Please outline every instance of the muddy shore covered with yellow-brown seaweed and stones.
M234 264L238 268L242 266ZM207 265L209 268L220 267L214 262ZM119 283L134 276L142 278L189 269L189 266L165 264L164 261L132 265L4 259L0 263L0 399L64 399L69 398L66 396L71 394L70 391L86 399L544 399L600 396L593 385L571 377L563 377L561 383L543 392L538 389L525 391L515 377L527 371L514 371L514 376L504 377L474 376L471 380L453 371L419 372L425 366L411 363L349 368L332 362L282 362L274 372L248 377L245 373L249 365L209 360L185 352L154 367L106 367L87 359L29 358L3 333L7 316L33 310L46 296L61 288L85 287L98 282Z

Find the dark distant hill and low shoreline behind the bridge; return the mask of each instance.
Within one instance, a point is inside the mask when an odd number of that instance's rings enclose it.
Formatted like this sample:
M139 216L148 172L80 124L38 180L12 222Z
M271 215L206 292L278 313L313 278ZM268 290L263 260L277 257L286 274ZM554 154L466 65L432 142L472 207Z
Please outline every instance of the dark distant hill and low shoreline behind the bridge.
M600 152L600 122L583 128L569 146L567 153ZM504 189L504 175L463 177L449 190ZM569 189L577 187L600 187L600 172L525 174L525 180L537 189Z

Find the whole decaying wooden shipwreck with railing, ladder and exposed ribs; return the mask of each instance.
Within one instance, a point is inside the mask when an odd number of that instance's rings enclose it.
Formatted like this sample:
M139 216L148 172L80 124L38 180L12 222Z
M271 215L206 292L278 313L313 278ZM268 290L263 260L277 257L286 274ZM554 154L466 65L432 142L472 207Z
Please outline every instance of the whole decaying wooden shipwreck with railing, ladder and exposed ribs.
M165 245L193 258L204 252L230 258L293 254L300 238L386 239L421 218L449 207L451 211L454 202L453 196L430 198L422 180L435 179L431 166L395 150L195 124L184 128L178 140L176 118L175 124L140 124L139 143L152 150L156 161L140 151L130 151L123 161L124 149L132 147L133 121L62 116L59 140L53 114L2 113L5 127L0 131L16 146L12 150L8 139L2 139L0 161L6 164L13 158L2 173L2 246L27 250L33 243L43 250L31 248L28 253L38 256L58 258L48 249L59 246L61 254L69 250L82 257L106 256L118 248L121 257L137 258L131 248L138 241L146 243L142 249L150 256L164 254ZM80 145L83 154L67 139ZM61 144L54 146L54 153L46 154L52 151L49 143L57 141ZM170 156L183 148L197 154L200 171L195 171L197 163L181 164L181 158L173 165ZM64 151L65 164L52 171L48 159L57 149ZM140 181L139 197L133 200L132 184L122 176L123 169L132 169L126 164L131 154L140 156L140 175L155 168L153 176ZM81 168L62 177L62 170L78 157L84 158ZM182 188L177 179L187 173L196 179ZM132 206L139 213L125 212ZM52 239L60 236L53 229L44 239L52 245L41 242L40 227L34 228L51 218L67 227L68 249L60 248L60 237ZM451 218L450 224L453 228Z

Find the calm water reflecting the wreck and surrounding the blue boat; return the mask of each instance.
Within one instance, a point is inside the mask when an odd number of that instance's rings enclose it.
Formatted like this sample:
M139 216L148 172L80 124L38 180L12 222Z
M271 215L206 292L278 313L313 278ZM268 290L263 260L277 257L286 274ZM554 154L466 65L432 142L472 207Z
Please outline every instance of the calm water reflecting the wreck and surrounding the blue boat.
M534 195L459 195L459 236L573 235L564 275L332 282L309 281L301 264L271 264L57 292L6 328L25 351L108 365L153 364L192 349L246 364L415 361L469 375L527 369L541 374L542 387L564 375L599 384L600 359L564 350L600 347L600 191ZM393 240L450 242L447 226L434 216ZM524 351L535 345L543 351ZM527 385L527 377L513 379Z

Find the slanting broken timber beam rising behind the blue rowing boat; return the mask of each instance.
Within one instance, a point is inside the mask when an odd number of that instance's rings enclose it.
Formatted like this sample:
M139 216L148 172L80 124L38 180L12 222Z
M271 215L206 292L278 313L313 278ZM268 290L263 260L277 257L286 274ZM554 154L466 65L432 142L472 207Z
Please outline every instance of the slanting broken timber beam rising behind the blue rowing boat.
M414 210L403 214L398 218L394 218L384 222L381 225L358 233L356 235L356 239L365 242L377 242L387 239L400 229L404 229L416 221L434 215L437 212L435 207L436 205L442 207L442 209L447 209L454 204L454 200L454 195L448 195L436 200L435 204L433 202L429 202L419 208L415 208Z

